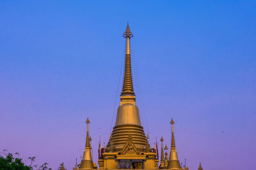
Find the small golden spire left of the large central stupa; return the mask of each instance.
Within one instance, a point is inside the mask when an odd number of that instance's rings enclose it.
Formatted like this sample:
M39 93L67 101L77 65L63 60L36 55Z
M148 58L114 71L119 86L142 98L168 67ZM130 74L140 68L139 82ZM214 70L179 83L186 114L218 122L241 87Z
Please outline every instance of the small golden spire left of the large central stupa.
M93 169L90 136L89 136L89 124L90 124L89 118L87 118L85 123L87 124L86 143L84 148L83 159L81 161L79 169Z

